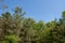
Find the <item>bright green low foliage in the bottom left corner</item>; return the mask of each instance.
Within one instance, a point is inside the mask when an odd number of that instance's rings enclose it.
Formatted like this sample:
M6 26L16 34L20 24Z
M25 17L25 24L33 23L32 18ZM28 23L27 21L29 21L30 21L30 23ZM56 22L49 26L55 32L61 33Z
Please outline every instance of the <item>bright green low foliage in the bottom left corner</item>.
M0 43L18 43L18 38L16 35L5 35Z

